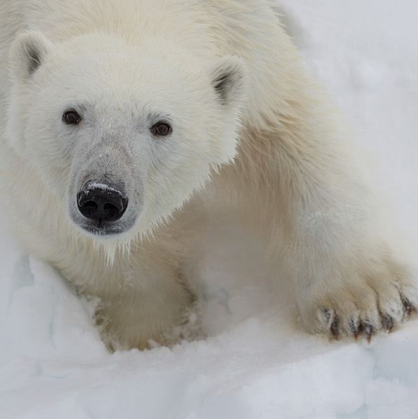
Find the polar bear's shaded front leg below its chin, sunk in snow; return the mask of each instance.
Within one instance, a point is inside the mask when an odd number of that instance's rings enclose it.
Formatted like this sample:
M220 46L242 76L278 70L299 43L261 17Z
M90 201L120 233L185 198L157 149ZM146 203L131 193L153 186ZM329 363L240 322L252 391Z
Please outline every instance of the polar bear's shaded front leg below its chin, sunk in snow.
M98 272L72 272L75 280L66 274L78 292L99 299L95 319L103 342L109 351L177 343L194 301L180 268L177 240L161 228L152 241L132 243L124 257L122 251L117 249L111 264L98 254L89 259ZM173 329L179 329L178 335Z

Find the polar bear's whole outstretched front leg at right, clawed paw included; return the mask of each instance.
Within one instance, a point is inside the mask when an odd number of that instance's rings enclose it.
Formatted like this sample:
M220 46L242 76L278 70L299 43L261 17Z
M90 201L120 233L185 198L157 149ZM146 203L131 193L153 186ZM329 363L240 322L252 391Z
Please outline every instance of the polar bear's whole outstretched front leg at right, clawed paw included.
M356 152L338 133L299 124L244 131L233 181L241 206L264 226L305 330L390 332L418 307L415 272L396 256Z

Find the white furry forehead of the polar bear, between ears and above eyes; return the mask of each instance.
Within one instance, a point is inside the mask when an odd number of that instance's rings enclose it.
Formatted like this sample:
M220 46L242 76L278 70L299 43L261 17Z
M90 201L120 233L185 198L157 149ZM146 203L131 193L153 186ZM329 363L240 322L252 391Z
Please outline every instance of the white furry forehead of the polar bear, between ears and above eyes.
M167 53L168 54L168 53ZM185 103L187 96L206 97L210 78L194 60L143 47L66 51L61 45L45 63L40 82L66 94L87 92L92 96L154 98ZM206 95L203 94L206 92Z

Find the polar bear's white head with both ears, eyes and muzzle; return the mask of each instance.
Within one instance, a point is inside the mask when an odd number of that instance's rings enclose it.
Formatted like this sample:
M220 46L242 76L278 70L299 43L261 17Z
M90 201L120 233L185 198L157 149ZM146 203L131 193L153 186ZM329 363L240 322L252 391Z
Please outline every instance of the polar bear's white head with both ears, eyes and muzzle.
M235 154L246 90L235 57L201 63L154 38L52 44L29 32L13 44L10 74L10 145L98 240L147 231Z

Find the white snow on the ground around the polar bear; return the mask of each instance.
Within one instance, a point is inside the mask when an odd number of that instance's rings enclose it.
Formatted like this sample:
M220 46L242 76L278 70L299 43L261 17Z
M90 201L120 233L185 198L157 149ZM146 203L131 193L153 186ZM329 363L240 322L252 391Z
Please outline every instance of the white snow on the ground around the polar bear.
M308 66L374 156L400 228L416 242L418 2L280 5ZM27 256L3 221L0 418L418 418L417 320L370 345L304 335L259 286L268 272L252 258L233 263L254 244L233 225L212 234L217 248L199 265L209 337L109 354L92 307Z

